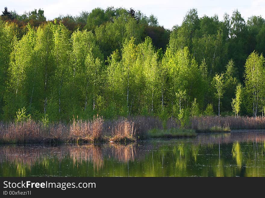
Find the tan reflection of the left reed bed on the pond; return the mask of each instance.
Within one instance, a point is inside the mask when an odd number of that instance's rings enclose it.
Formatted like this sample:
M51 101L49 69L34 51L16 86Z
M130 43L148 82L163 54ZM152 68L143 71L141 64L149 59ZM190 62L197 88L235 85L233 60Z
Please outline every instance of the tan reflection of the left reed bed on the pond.
M57 158L59 161L69 157L73 164L82 165L92 162L97 170L104 165L104 156L112 156L120 162L134 161L136 156L135 144L120 145L70 145L57 147L39 146L2 146L0 147L0 162L9 161L19 167L32 167L42 164L48 159ZM108 158L107 157L107 158Z

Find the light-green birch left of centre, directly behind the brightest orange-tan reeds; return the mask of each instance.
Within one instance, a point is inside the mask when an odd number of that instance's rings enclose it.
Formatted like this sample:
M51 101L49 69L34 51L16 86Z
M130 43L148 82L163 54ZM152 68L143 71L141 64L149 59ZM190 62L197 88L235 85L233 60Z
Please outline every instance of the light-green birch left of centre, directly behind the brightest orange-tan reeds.
M98 79L101 72L103 55L96 44L95 36L87 30L76 30L71 36L71 82L74 103L72 113L81 111L92 116L95 109L95 89L100 86Z

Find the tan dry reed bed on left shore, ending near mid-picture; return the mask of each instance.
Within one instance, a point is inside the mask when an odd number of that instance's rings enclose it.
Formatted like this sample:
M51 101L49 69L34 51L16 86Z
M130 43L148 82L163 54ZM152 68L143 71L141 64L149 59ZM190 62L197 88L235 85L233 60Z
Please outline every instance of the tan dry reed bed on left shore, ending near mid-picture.
M75 120L68 124L44 125L34 120L0 122L0 143L100 143L136 140L133 121L126 118L104 122L102 117L91 121Z

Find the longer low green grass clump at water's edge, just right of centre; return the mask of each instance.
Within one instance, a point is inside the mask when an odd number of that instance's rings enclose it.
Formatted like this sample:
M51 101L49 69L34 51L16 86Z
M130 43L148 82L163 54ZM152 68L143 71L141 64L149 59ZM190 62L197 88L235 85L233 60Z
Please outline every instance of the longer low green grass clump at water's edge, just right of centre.
M161 129L151 129L148 131L148 136L157 138L157 137L195 137L196 133L193 129L180 129L180 128L171 128L168 130Z

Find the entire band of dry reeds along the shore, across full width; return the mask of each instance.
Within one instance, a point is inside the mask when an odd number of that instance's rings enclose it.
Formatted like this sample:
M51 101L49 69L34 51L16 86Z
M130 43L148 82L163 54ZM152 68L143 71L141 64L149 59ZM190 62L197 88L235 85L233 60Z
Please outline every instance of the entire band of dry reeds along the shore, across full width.
M166 123L166 124L165 124ZM165 127L165 128L164 128ZM180 124L170 118L166 122L155 116L135 116L105 121L95 116L91 121L75 120L68 124L43 124L26 120L4 123L0 121L1 143L100 143L104 141L132 142L150 137L149 130L168 132L179 130ZM186 129L196 132L228 132L230 130L265 129L264 117L202 116L192 117ZM167 131L168 130L168 131ZM183 131L182 131L183 132ZM161 133L163 134L163 133ZM184 134L183 136L189 136ZM165 135L167 137L167 135Z

